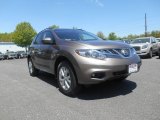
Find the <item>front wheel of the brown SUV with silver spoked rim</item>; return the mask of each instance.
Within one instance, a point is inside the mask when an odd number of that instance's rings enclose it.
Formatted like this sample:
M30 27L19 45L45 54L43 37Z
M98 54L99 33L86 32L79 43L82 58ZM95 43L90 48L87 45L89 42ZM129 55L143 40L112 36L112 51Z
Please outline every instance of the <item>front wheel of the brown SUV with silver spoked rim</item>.
M58 65L57 82L59 90L65 95L74 96L80 90L74 69L67 61L63 61Z

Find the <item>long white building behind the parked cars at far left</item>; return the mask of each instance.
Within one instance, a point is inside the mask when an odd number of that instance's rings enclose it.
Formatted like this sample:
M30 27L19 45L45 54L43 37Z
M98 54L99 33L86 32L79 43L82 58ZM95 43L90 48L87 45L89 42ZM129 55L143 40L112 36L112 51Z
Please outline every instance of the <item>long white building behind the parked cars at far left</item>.
M25 51L25 48L19 47L13 42L0 42L0 52L6 53L6 51Z

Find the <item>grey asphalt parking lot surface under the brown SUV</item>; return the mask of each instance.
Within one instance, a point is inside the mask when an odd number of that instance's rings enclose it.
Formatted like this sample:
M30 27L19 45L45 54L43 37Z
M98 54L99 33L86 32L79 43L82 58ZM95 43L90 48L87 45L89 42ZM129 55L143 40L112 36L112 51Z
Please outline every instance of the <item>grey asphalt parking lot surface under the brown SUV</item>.
M30 77L26 59L0 61L0 120L160 120L160 59L142 59L122 83L86 87L74 98L54 76Z

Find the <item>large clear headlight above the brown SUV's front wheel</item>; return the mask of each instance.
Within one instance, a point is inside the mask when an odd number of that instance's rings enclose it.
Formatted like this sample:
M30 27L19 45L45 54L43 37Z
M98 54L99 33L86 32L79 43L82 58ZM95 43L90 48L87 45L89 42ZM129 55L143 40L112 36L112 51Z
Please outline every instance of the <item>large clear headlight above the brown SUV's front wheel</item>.
M83 57L95 58L100 60L104 60L107 58L107 55L100 50L80 49L76 50L76 53Z

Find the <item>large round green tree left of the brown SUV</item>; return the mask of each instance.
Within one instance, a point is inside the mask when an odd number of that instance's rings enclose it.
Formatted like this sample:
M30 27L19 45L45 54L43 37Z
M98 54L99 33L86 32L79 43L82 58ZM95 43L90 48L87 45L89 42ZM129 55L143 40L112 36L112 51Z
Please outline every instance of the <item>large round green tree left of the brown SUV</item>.
M22 22L16 26L12 39L18 46L27 48L27 46L31 44L35 35L36 31L33 29L31 24L28 22Z

